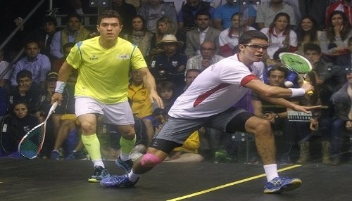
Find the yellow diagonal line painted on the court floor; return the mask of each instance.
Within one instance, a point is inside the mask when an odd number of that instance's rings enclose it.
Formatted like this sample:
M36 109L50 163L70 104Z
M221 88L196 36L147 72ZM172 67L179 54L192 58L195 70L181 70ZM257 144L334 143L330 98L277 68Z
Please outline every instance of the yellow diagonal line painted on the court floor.
M294 169L296 167L301 167L301 164L295 164L295 165L292 165L292 166L289 166L289 167L285 167L285 168L279 169L278 171L286 171L286 170L289 170L289 169ZM227 188L229 186L234 186L234 185L239 184L239 183L244 183L246 181L251 181L253 179L258 179L258 178L263 177L263 176L265 176L265 174L259 174L257 176L251 176L251 177L249 177L247 179L234 181L232 183L227 183L227 184L224 184L224 185L221 185L221 186L217 186L217 187L214 187L214 188L209 188L209 189L202 190L202 191L199 191L199 192L196 192L196 193L191 193L189 195L184 195L182 197L176 197L176 198L173 198L173 199L167 200L167 201L183 200L183 199L186 199L186 198L189 198L189 197L194 197L194 196L197 196L197 195L201 195L201 194L204 194L204 193L209 193L209 192L212 192L212 191L215 191L215 190L219 190L219 189L222 189L222 188Z

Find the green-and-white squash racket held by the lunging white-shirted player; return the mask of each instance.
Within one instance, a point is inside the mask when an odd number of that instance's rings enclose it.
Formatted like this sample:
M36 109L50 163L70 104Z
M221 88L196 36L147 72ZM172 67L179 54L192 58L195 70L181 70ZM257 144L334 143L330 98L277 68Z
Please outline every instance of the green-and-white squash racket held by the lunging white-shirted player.
M306 83L306 74L312 70L312 65L309 60L295 53L283 52L279 53L279 58L282 64L287 67L287 69L296 72L303 82ZM304 77L301 74L305 74ZM312 96L313 91L307 92L308 96Z

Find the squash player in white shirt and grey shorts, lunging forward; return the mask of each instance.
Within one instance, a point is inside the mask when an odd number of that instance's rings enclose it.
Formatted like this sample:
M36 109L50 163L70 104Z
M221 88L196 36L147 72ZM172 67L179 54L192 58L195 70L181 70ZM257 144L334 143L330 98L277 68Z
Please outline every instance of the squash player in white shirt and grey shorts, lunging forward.
M134 186L141 174L151 170L168 156L171 150L182 146L188 136L206 126L234 133L246 131L256 138L256 147L264 165L267 183L264 193L282 193L301 186L301 179L278 176L275 162L275 142L270 122L232 105L253 90L275 104L285 108L308 112L318 107L295 105L285 97L304 96L313 89L303 84L299 89L268 86L262 82L262 60L268 48L268 37L252 30L239 37L239 53L220 60L206 68L189 88L175 100L168 122L153 139L146 155L136 162L129 174L111 176L101 181L106 188Z

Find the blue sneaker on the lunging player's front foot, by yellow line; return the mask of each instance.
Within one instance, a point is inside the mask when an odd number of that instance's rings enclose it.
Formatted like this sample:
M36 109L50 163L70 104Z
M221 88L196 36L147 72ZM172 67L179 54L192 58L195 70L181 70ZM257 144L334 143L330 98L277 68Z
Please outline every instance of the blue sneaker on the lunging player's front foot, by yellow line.
M294 190L300 187L301 184L301 179L289 179L287 176L279 176L265 184L264 193L282 193L283 191Z

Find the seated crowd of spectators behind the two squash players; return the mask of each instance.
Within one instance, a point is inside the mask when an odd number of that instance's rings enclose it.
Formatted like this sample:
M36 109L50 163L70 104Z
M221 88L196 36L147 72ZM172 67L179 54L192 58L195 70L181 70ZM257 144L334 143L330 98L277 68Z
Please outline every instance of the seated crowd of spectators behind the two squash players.
M34 3L30 3L28 6L32 8ZM352 131L351 1L187 0L182 5L177 1L179 4L175 5L161 0L131 1L131 4L112 0L111 3L111 9L118 11L123 19L120 38L141 50L165 105L163 109L155 107L142 84L142 75L130 72L128 97L137 134L132 158L145 153L153 136L167 121L173 101L196 76L222 58L236 56L238 38L243 32L259 30L269 39L263 59L265 71L260 79L269 85L299 87L302 80L279 60L279 53L298 53L313 65L306 79L315 86L315 91L313 96L290 101L323 106L311 112L305 121L299 120L294 111L270 105L254 93L244 96L234 107L245 108L272 123L278 145L277 160L282 164L309 162L311 150L317 147L324 164L349 162L350 156L344 153L351 152L348 135ZM20 31L0 50L0 155L19 157L20 138L46 117L58 71L70 48L78 41L99 37L94 28L83 26L82 15L96 12L85 7L87 1L61 1L60 4L62 8L70 8L59 10L68 14L63 28L57 26L55 16L48 16L40 9L35 14L40 20L35 22L23 25L16 15L3 23L8 26L6 29L20 27ZM9 13L10 8L6 8ZM4 30L1 41L8 34ZM22 47L23 55L13 62L15 53ZM63 92L63 104L50 118L40 157L87 158L74 109L76 79L77 72L73 72ZM104 124L103 119L99 122L103 157L115 160L120 149L118 131ZM316 143L315 136L319 136L320 144ZM222 134L204 127L194 132L181 148L172 151L166 161L236 162L241 145L238 138L250 140L243 134ZM294 152L295 148L298 153ZM257 162L255 154L251 162Z

